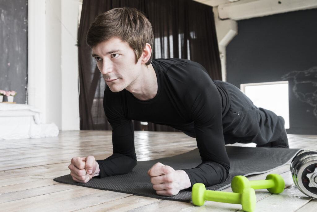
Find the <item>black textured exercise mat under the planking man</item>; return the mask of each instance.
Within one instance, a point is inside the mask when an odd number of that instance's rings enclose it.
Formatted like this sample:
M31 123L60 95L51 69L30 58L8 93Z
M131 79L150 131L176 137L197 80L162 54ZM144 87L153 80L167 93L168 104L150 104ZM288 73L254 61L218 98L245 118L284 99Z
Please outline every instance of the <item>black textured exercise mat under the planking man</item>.
M285 165L300 149L283 148L253 148L226 146L230 159L229 177L223 183L207 187L208 190L221 190L230 186L231 180L236 175L248 176L268 172ZM84 186L94 189L117 191L127 194L147 196L163 200L181 202L191 201L191 191L182 190L174 196L160 196L155 193L147 171L157 162L169 165L175 170L194 168L201 163L198 149L181 155L165 157L151 161L140 161L132 172L125 175L104 178L94 177L87 183L73 181L70 175L57 177L57 182Z

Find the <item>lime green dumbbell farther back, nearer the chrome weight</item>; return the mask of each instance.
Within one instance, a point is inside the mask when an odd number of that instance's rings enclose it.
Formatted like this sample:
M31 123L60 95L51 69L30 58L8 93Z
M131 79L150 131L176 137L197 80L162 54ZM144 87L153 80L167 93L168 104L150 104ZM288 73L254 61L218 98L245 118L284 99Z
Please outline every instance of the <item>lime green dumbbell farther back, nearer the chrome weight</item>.
M245 188L267 189L272 194L279 194L284 190L284 179L278 174L269 174L265 180L249 181L245 176L235 176L231 181L233 192L241 193Z

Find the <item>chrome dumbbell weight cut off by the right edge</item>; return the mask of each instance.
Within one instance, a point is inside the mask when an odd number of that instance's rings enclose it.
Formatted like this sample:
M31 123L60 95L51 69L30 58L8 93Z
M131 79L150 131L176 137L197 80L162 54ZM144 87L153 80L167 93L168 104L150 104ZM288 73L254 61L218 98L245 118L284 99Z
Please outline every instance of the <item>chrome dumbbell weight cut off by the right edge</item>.
M296 187L307 196L317 198L317 150L297 153L290 168Z

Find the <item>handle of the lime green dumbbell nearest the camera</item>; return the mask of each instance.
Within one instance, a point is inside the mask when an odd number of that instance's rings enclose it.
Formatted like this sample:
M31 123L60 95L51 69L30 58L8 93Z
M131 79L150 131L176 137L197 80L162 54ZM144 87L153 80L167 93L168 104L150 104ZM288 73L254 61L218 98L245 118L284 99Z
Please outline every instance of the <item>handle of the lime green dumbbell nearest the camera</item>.
M239 193L205 190L204 197L208 201L241 204L241 194Z

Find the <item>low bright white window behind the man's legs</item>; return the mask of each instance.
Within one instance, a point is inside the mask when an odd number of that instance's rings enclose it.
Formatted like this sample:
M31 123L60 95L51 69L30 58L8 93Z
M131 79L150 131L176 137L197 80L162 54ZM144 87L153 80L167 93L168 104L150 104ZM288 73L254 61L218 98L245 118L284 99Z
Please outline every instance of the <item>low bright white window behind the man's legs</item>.
M240 89L257 107L282 116L285 128L289 129L288 81L247 83L241 84Z

